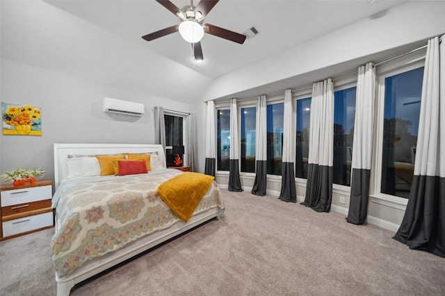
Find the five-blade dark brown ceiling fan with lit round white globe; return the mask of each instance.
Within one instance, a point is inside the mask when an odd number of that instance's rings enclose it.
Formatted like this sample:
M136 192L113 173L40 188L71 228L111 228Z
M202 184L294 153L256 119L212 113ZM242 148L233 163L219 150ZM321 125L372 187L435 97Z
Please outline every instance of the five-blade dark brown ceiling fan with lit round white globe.
M179 19L181 19L181 24L145 35L143 36L143 39L152 41L159 37L179 31L181 37L183 37L186 42L192 44L193 56L196 62L202 62L202 60L204 60L200 42L204 33L243 44L246 38L245 35L211 24L203 24L204 18L209 14L210 10L212 10L213 6L215 6L218 1L219 0L201 0L197 6L193 6L193 0L191 0L190 6L184 6L182 9L179 9L169 0L156 0L156 2L179 17Z

